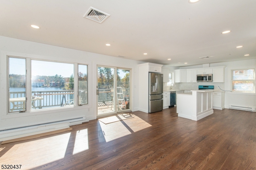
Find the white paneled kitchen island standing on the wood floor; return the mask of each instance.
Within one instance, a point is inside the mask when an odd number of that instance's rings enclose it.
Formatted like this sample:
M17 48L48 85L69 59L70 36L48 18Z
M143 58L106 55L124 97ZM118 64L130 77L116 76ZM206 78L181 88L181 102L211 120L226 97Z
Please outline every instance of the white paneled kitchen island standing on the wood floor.
M178 116L197 121L211 115L213 91L214 89L191 90L189 93L176 94Z

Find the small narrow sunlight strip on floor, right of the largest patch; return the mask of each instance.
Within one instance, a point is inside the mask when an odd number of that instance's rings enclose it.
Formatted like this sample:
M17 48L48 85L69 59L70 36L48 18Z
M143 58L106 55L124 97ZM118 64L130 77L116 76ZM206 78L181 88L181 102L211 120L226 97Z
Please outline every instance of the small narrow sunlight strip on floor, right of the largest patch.
M83 129L80 131L76 131L76 140L75 140L73 155L79 152L83 152L87 149L89 149L88 130Z

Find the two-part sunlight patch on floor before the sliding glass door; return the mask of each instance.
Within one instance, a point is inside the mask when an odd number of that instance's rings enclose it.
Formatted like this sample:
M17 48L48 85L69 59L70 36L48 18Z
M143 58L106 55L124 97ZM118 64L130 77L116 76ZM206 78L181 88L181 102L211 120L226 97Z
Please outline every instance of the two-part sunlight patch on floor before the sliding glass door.
M137 132L152 126L151 124L148 124L146 121L142 120L140 117L135 115L132 116L134 118L123 120L124 124L129 126L132 131L129 131L121 121L113 122L110 124L104 124L99 121L106 142L124 137L126 135L132 134L132 132Z

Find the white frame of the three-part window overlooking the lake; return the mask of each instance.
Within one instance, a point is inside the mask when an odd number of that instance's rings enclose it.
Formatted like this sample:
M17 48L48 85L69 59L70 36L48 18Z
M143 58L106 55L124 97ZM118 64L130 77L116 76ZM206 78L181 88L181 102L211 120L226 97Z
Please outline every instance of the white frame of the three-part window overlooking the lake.
M4 79L6 81L1 82L1 94L2 94L2 99L1 99L1 118L2 119L8 119L8 118L16 118L16 117L26 117L26 116L34 116L34 115L41 115L41 114L49 114L49 113L56 113L56 112L63 112L63 111L72 111L72 110L81 110L81 109L86 109L86 108L91 108L92 104L90 102L91 98L91 92L88 91L88 103L84 104L80 107L78 107L78 101L77 101L77 96L78 95L78 63L73 63L73 62L66 62L66 61L56 61L56 60L45 60L42 58L34 58L34 55L27 55L27 54L22 54L22 53L9 53L9 52L2 52L1 53L4 58L1 59L1 72L6 74L1 75L1 79ZM27 102L26 102L26 112L20 113L19 111L15 112L10 112L9 113L9 90L8 89L8 81L9 81L9 75L8 70L9 69L9 63L8 63L8 57L13 57L13 58L22 58L26 59L26 69L27 69L27 74L26 74L26 96L31 96L31 60L39 60L39 61L49 61L49 62L60 62L60 63L68 63L68 64L74 64L74 106L67 106L67 107L56 107L56 108L51 108L51 109L40 109L40 110L31 110L32 107L28 105L28 103L31 103L31 98L27 97ZM87 65L87 70L91 70L91 63L79 63L83 65ZM87 73L88 74L88 73ZM91 77L88 74L87 75L87 80L88 80L88 89L91 88L89 85L89 82L91 81ZM89 87L90 86L90 87ZM90 97L89 97L90 96ZM29 107L28 107L29 106Z

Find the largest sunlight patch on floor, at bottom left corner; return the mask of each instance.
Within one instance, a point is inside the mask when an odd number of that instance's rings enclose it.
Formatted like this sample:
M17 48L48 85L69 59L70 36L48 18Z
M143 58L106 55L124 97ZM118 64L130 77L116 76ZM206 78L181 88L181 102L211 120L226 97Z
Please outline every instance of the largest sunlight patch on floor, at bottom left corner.
M4 165L22 165L22 169L31 169L62 159L66 153L69 137L70 133L66 133L13 145L0 158L0 162Z

